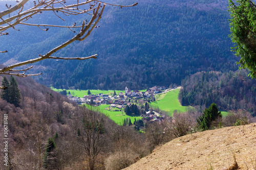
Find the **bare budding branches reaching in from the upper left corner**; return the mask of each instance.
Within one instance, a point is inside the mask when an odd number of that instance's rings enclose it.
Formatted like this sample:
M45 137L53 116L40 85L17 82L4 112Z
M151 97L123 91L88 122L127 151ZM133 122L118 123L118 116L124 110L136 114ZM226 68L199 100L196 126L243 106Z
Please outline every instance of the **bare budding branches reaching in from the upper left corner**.
M18 2L18 1L16 1ZM34 1L34 6L29 9L25 9L25 4L28 3L29 0L22 0L18 2L15 6L11 7L7 5L7 10L0 12L0 36L2 35L8 35L9 32L7 32L8 29L12 28L14 30L16 25L28 25L28 26L36 26L39 29L43 31L48 31L50 27L58 27L58 28L81 28L80 32L75 35L73 38L68 40L67 42L60 44L57 47L52 48L48 53L44 55L40 55L38 58L27 60L24 62L19 62L13 65L5 66L4 68L0 69L0 74L5 75L16 75L19 77L27 77L27 76L36 76L39 74L26 74L26 71L31 69L33 66L27 67L27 68L20 68L20 66L24 66L27 64L32 64L41 60L45 59L63 59L63 60L86 60L90 58L96 58L97 54L88 56L88 57L76 57L76 58L67 58L67 57L53 57L52 55L59 51L61 48L71 44L74 41L83 41L86 39L92 32L94 28L97 28L98 21L100 20L102 13L104 11L104 8L106 5L111 6L119 6L119 7L131 7L136 6L138 3L135 3L133 5L129 6L120 6L120 5L114 5L114 4L108 4L104 3L98 0L87 0L87 1L78 1L77 3L72 4L71 1L65 1L65 0L38 0L38 2ZM70 3L70 4L68 4ZM103 3L103 5L102 5ZM88 5L87 9L80 9L81 7L84 7L84 5ZM65 16L68 15L79 15L79 14L88 14L91 15L91 19L88 22L83 21L82 25L76 26L76 23L74 23L73 26L60 26L60 25L39 25L39 24L32 24L28 23L27 21L32 18L33 15L40 14L45 11L52 11L57 17L65 21L59 14L62 13ZM11 14L11 15L10 15ZM19 30L17 30L19 31ZM72 31L72 30L71 30ZM74 32L74 31L73 31ZM0 53L7 53L7 50L0 51ZM18 69L14 69L16 67L19 67ZM22 72L20 72L22 71ZM4 87L0 87L4 88Z

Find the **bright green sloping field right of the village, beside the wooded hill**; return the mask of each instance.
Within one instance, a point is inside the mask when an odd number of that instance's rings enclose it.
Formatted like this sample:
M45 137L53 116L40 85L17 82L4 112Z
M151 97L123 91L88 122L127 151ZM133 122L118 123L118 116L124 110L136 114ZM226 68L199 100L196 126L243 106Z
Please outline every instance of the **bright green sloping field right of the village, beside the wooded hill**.
M157 101L152 102L150 105L152 105L153 107L159 107L159 109L169 112L170 116L173 115L173 112L175 110L185 112L186 109L191 106L181 106L178 100L179 92L180 89L177 88L164 94L155 95Z

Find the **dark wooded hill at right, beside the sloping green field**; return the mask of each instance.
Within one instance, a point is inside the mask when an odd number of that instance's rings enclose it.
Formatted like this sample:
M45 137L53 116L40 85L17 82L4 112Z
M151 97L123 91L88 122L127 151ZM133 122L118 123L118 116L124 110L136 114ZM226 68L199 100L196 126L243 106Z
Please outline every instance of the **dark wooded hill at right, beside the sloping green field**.
M181 85L182 105L208 107L216 103L224 110L245 109L256 114L256 81L248 77L248 71L197 72L186 77Z

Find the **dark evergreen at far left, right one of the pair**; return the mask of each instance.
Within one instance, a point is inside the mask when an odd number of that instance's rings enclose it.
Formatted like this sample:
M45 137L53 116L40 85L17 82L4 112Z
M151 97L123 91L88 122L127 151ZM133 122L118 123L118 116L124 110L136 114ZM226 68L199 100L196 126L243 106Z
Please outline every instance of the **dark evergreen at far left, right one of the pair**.
M9 87L9 100L10 103L13 104L16 107L19 107L19 103L21 100L21 95L20 95L20 91L18 88L18 83L16 81L16 79L11 76L10 77L10 87Z

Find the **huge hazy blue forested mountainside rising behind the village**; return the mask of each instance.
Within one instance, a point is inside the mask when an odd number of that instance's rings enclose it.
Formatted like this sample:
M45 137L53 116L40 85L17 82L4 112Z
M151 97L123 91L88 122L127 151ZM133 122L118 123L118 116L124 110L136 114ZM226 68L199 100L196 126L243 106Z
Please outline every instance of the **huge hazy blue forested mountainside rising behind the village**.
M1 8L6 1L0 1ZM118 4L133 4L120 1ZM236 70L236 57L230 52L227 1L138 1L133 8L108 7L84 42L67 46L58 57L86 57L87 61L40 62L33 72L45 85L79 89L145 88L152 85L180 84L197 71ZM39 22L58 23L55 15L38 15ZM85 18L67 17L67 25ZM13 63L37 57L75 35L68 29L19 26L2 36L2 61ZM76 30L79 31L79 30ZM22 38L21 38L22 37ZM24 38L25 37L25 38Z

